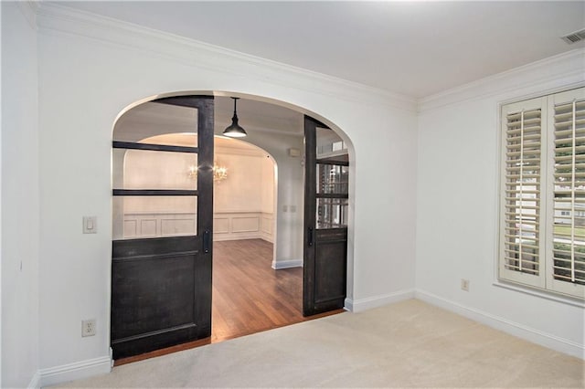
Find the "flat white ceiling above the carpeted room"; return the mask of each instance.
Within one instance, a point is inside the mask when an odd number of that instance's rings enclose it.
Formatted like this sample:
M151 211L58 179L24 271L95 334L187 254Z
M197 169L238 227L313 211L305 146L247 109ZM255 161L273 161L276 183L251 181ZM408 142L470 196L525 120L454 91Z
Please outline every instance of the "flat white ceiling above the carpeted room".
M584 43L585 2L64 2L422 98Z

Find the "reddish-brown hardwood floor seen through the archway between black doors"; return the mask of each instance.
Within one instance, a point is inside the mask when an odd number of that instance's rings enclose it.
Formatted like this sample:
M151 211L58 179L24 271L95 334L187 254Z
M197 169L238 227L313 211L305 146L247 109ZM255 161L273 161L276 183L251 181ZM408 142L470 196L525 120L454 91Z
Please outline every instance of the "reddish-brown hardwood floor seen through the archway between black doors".
M117 360L116 366L344 311L303 317L303 268L271 268L269 242L214 242L213 250L211 337Z

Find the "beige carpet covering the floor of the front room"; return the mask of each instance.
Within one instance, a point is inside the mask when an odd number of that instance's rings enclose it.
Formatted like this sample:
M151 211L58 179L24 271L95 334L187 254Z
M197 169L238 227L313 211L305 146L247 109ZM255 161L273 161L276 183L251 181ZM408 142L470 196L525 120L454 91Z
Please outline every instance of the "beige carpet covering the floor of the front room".
M307 321L62 387L585 387L585 363L419 300Z

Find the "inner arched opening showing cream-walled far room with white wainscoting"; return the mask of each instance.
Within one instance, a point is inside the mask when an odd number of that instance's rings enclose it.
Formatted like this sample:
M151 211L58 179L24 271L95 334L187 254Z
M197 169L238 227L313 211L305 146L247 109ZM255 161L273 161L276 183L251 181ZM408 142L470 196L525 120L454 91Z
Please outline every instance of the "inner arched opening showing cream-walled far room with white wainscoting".
M169 118L161 118L154 125L166 131L178 129L174 119ZM119 129L127 130L129 126L126 121ZM197 134L167 132L138 142L192 147L197 144ZM197 157L186 152L122 149L114 155L116 166L122 167L115 170L115 181L124 188L189 189L197 179ZM277 165L271 155L248 142L216 135L213 169L214 241L262 238L272 243ZM114 239L193 233L196 205L192 198L188 200L160 205L153 197L124 198L123 209L114 212ZM153 223L145 223L145 219Z

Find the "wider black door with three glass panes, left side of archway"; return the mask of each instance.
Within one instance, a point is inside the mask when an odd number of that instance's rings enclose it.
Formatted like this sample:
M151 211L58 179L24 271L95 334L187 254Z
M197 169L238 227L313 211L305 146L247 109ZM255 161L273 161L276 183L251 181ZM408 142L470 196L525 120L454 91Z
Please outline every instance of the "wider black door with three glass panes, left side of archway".
M114 359L211 334L214 100L184 96L146 104L156 114L180 117L181 130L192 123L187 131L197 134L186 146L141 141L156 132L148 121L114 130ZM171 163L176 158L181 169Z

